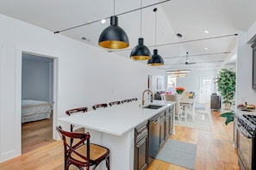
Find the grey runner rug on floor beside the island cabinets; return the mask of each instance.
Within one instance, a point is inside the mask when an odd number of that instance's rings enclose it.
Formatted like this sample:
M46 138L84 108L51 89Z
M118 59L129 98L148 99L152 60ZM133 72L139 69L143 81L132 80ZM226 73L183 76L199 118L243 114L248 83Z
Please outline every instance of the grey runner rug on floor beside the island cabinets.
M169 139L155 158L180 167L195 169L196 155L197 144Z

